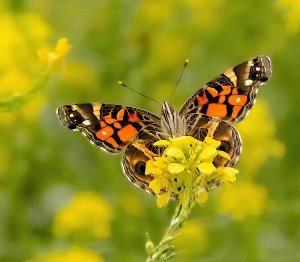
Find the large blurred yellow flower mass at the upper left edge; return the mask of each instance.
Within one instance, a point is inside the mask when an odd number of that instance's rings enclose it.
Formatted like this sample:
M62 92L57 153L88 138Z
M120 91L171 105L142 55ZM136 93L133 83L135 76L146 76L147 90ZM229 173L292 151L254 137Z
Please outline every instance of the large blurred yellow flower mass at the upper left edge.
M35 50L48 41L51 33L39 15L30 12L13 15L5 10L0 7L3 36L0 39L0 99L32 87L38 69Z

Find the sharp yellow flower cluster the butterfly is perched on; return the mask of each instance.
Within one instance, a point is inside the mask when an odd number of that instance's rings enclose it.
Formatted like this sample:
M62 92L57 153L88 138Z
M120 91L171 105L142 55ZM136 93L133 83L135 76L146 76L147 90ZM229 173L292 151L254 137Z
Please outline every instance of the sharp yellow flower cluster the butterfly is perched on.
M155 142L155 146L166 149L161 156L147 162L145 174L153 177L149 186L158 195L157 205L165 206L171 197L182 200L184 194L204 203L209 190L224 182L234 182L236 169L213 164L217 155L229 159L227 153L217 149L220 144L210 137L202 142L191 136Z

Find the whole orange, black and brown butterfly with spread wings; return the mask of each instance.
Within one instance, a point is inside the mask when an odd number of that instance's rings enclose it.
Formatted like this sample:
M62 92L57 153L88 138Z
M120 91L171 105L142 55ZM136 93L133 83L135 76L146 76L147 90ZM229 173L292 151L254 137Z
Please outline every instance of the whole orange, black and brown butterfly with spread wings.
M232 126L253 107L258 89L272 75L271 60L258 56L226 70L198 90L179 112L166 101L161 116L129 106L85 103L64 105L57 110L61 123L80 131L93 144L109 153L123 152L125 176L150 191L152 177L145 175L146 163L159 156L153 143L172 136L206 136L221 142L219 150L230 160L217 156L214 165L234 166L242 150L239 132Z

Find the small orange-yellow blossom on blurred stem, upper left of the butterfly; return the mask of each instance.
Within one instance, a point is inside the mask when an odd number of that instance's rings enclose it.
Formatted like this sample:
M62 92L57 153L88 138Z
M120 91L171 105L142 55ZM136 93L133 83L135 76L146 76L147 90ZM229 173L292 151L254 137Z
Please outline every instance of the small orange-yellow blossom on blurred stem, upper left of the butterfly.
M71 47L67 38L60 38L53 51L50 51L48 48L40 49L37 54L43 68L57 68L69 53Z

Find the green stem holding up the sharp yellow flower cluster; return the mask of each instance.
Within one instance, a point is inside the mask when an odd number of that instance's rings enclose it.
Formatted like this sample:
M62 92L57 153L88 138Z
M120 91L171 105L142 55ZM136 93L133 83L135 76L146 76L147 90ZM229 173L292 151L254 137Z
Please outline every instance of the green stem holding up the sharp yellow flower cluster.
M186 187L186 189L191 187ZM154 250L148 250L147 262L161 262L167 261L177 253L175 252L174 240L182 229L189 213L195 204L193 193L191 190L185 190L180 204L175 209L169 228L160 241L159 245ZM150 245L152 242L148 239ZM153 245L153 244L152 244ZM147 246L147 245L146 245Z

